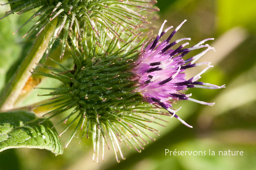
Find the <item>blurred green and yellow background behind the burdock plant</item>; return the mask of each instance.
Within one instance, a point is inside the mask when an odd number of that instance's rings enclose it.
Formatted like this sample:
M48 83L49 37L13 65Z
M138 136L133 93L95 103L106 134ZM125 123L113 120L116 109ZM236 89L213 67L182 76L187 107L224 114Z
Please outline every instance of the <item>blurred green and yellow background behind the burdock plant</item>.
M1 3L4 1L1 0ZM178 115L193 129L176 119L169 120L166 128L159 127L160 136L149 141L145 150L137 153L124 144L126 160L117 163L112 150L106 151L105 161L92 162L91 140L73 139L63 155L55 156L47 150L9 149L0 153L0 170L77 170L77 169L140 169L140 170L253 170L256 168L256 1L246 0L159 0L159 20L153 25L159 28L164 20L168 26L178 26L188 21L174 36L174 40L190 37L190 45L206 38L216 52L209 51L201 61L212 62L211 68L202 75L203 82L216 85L226 84L219 90L190 89L192 97L205 102L216 102L213 107L190 101L178 102L174 108L182 109ZM8 10L1 6L0 16ZM28 16L29 17L29 14ZM26 28L12 33L24 23L26 16L11 15L0 21L0 89L6 73L15 70L15 62L31 39L23 40ZM28 26L30 27L30 26ZM155 30L155 33L157 33ZM32 38L33 39L33 38ZM196 54L198 51L191 53ZM199 62L199 61L198 61ZM13 65L14 64L14 65ZM188 78L204 67L188 69ZM8 79L7 74L7 79ZM46 82L49 83L49 82ZM39 92L35 92L39 93ZM33 96L33 95L31 95ZM37 100L29 97L29 100ZM165 118L170 119L170 118ZM58 122L58 120L53 120ZM57 127L61 132L63 127ZM67 141L71 131L61 136ZM206 151L204 156L165 155L170 151ZM209 156L209 149L215 156ZM243 155L219 156L219 151L243 151Z

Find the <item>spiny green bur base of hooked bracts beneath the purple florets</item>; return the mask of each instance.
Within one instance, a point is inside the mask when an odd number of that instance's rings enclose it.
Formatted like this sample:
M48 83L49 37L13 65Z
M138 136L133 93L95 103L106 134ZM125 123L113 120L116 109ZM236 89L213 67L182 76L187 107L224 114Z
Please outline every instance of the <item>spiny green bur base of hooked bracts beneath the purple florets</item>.
M104 37L102 42L106 42ZM108 139L119 162L117 150L121 157L125 158L118 140L123 141L128 148L133 146L140 152L137 147L144 149L143 146L147 143L145 137L155 140L145 129L155 134L159 132L145 122L159 124L155 121L159 118L153 115L171 116L171 114L160 112L156 107L152 108L152 105L144 102L140 92L135 90L140 84L131 81L134 74L128 70L134 67L134 61L138 58L147 36L139 38L138 35L128 34L126 43L121 43L114 37L103 46L95 44L95 38L91 38L92 40L82 40L87 46L84 53L77 48L76 41L72 41L71 46L68 44L75 63L73 69L55 61L60 68L39 64L51 70L52 74L34 70L36 74L63 82L63 86L59 88L41 88L55 91L43 95L54 97L50 99L51 102L40 106L51 104L56 108L46 114L49 115L47 119L71 110L71 113L59 122L66 123L68 119L73 119L63 132L73 123L78 122L65 147L80 128L83 130L82 137L85 135L87 138L89 136L92 138L93 153L96 154L97 162L100 145L104 155L104 144L108 145ZM140 41L136 42L139 39Z

